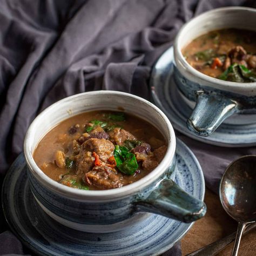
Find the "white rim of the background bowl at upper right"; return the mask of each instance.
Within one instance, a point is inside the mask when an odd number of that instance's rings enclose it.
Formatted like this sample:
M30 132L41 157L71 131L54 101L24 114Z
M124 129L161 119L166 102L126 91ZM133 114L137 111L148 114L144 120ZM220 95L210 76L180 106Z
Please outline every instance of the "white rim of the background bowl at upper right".
M194 69L185 59L181 52L180 42L182 40L182 36L184 33L184 30L186 30L187 26L189 26L191 23L200 20L201 18L209 15L214 14L214 12L223 12L225 14L226 11L250 11L253 12L256 15L256 9L250 8L250 7L243 7L243 6L228 6L228 7L221 7L216 8L210 11L203 12L202 14L190 19L189 22L185 23L181 29L179 30L176 39L174 41L174 58L176 59L176 63L180 62L181 65L179 65L178 69L183 69L185 72L190 72L191 75L194 77L199 77L202 80L205 80L208 83L212 84L218 84L223 87L223 89L237 89L238 87L242 87L242 89L245 89L246 91L251 91L252 89L256 89L256 82L252 83L237 83L237 82L230 82L221 80L218 78L210 77L205 75L204 73L199 72L198 70ZM210 30L209 30L210 31ZM256 31L256 30L255 30Z

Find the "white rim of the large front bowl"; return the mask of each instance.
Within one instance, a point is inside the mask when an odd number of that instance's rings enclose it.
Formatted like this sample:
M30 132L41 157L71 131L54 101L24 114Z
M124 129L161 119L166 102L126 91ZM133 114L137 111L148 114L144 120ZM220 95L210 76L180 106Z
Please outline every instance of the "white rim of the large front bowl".
M167 135L167 137L169 137L167 151L165 153L165 156L164 156L163 160L161 160L160 164L156 167L156 169L151 171L145 177L143 177L142 179L139 179L138 181L136 181L132 184L129 184L129 185L126 185L126 186L123 186L120 188L112 188L110 190L84 191L84 190L79 190L76 188L62 185L62 184L58 183L57 181L48 177L37 166L37 164L32 156L33 152L30 152L30 150L29 150L29 146L31 145L31 143L33 143L33 142L30 142L31 133L33 134L33 132L32 132L33 129L36 129L38 121L44 116L44 114L54 110L58 104L65 104L65 102L69 102L70 100L72 100L76 97L84 97L87 95L93 95L93 96L97 97L99 94L100 95L117 95L118 97L126 97L126 98L128 97L128 98L137 99L139 102L146 104L147 106L151 107L152 110L156 111L159 114L159 116L163 119L163 121L168 129L168 134L165 134L165 135ZM86 112L86 110L83 112ZM81 112L81 113L83 113L83 112ZM129 113L129 110L127 112ZM76 113L76 114L79 114L79 113ZM139 114L138 114L138 117L139 117ZM65 118L65 119L68 119L68 118ZM62 121L65 119L62 119ZM60 121L60 122L62 122L62 121ZM147 120L147 121L150 122L150 120ZM49 131L50 130L46 131L44 133L44 136ZM36 142L36 143L38 144L39 142ZM41 113L39 113L38 116L33 120L33 122L29 126L28 131L26 132L26 136L24 139L24 156L25 156L26 164L29 167L28 168L29 171L39 181L39 183L48 187L51 191L61 194L64 197L72 198L75 200L83 200L83 201L84 200L111 201L111 200L116 200L117 198L119 199L122 197L130 196L132 193L137 193L139 191L142 191L145 187L149 186L154 181L156 181L166 171L167 167L170 166L170 164L174 158L175 150L176 150L176 136L175 136L175 133L174 133L174 130L173 130L170 120L165 116L163 111L161 111L157 106L153 105L146 99L131 95L130 93L119 92L119 91L107 91L107 90L106 91L92 91L92 92L78 93L76 95L72 95L70 97L61 99L58 102L50 105L45 110L43 110Z

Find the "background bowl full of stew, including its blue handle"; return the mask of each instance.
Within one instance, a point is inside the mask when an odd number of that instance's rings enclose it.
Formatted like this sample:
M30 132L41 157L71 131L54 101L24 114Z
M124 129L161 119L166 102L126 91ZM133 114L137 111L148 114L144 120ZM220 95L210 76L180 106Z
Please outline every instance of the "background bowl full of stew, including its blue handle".
M207 11L180 29L173 75L192 106L187 127L194 134L210 136L227 118L256 123L255 24L256 9L235 6Z

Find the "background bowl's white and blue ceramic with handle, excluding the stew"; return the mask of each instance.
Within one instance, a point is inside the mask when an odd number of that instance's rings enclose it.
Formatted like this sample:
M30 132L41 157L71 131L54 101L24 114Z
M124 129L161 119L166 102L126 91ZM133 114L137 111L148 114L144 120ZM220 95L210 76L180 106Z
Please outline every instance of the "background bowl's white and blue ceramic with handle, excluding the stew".
M206 76L186 62L181 49L208 31L224 28L255 31L255 23L255 9L228 7L205 12L179 31L174 43L174 77L183 95L197 102L187 121L188 129L194 134L210 135L233 114L256 113L256 82L234 83ZM241 119L241 124L245 123Z

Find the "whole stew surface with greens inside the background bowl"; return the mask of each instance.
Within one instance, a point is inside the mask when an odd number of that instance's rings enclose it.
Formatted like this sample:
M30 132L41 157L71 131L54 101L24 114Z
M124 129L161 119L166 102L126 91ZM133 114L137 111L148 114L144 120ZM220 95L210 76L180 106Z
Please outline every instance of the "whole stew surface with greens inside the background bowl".
M256 32L210 31L183 49L187 62L207 76L231 82L256 82Z

